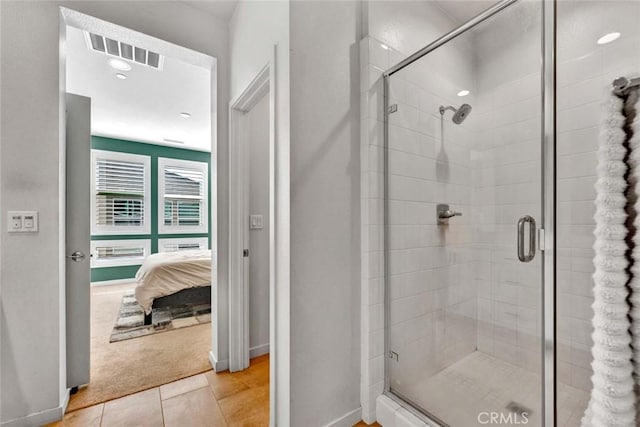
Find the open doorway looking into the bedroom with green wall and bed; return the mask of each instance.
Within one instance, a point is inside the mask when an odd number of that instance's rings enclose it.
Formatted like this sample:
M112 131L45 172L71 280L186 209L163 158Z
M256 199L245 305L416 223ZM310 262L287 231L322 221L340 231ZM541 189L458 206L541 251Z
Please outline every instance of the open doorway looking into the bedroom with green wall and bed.
M73 411L211 369L216 60L63 14Z

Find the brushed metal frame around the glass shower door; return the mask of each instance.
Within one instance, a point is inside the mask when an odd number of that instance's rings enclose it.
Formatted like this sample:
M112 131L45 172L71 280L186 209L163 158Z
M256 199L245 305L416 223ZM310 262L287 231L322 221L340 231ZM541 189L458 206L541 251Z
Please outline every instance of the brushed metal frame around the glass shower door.
M383 393L399 403L429 425L447 424L439 420L434 414L427 413L410 399L391 391L390 383L390 251L389 236L389 82L391 76L421 59L435 49L445 45L459 35L471 30L476 25L500 13L519 0L502 0L489 9L475 16L460 27L445 34L414 54L408 56L389 68L382 75L384 91L384 391ZM556 426L556 244L555 244L555 209L556 209L556 144L555 144L555 70L556 70L556 2L557 0L540 0L542 3L542 37L541 37L541 94L542 94L542 141L541 141L541 188L542 200L540 210L541 228L538 234L538 244L543 257L542 262L542 292L541 292L541 360L542 360L542 426Z

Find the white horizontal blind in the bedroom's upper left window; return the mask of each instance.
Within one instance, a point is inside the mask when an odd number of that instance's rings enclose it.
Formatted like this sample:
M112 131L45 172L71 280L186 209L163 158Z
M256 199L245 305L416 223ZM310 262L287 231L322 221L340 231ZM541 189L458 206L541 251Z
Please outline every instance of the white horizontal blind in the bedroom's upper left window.
M145 164L96 159L96 225L144 225Z

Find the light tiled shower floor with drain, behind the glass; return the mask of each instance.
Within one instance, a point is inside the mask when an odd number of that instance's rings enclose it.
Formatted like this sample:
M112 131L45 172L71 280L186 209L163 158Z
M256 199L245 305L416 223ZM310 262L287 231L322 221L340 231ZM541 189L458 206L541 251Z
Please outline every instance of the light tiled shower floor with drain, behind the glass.
M451 427L487 425L492 412L513 413L513 422L502 425L539 426L540 384L539 374L476 351L429 378L404 385L402 391L418 396L415 403ZM558 425L580 426L589 394L560 383L557 399ZM522 411L527 412L526 423Z

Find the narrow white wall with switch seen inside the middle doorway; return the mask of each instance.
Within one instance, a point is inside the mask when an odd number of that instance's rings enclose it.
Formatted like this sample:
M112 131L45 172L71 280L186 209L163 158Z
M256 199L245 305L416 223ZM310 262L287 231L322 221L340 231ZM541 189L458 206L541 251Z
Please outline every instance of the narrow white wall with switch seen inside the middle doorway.
M249 348L264 353L269 350L269 95L247 114L249 215L264 220L264 228L249 230Z

